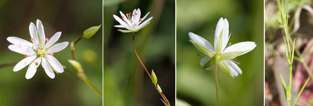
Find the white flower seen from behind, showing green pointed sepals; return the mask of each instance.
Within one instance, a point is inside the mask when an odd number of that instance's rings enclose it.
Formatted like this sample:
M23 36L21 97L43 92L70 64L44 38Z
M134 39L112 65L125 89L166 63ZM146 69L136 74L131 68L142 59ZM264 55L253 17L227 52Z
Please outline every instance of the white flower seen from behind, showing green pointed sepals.
M232 32L231 32L232 33ZM230 33L230 34L231 34ZM215 68L215 61L218 60L218 65L221 69L229 75L238 76L242 74L241 69L237 63L231 59L243 55L255 48L255 43L251 41L240 42L229 47L226 47L230 35L228 36L228 21L225 18L220 18L215 29L214 48L210 42L192 32L189 32L190 41L198 48L199 51L204 53L200 61L203 70L212 70Z

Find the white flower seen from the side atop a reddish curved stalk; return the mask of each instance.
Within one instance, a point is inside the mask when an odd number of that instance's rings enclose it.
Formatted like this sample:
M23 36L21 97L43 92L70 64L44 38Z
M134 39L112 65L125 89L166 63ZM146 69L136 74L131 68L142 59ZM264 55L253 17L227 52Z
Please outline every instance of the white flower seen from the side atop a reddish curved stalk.
M139 8L137 10L135 9L133 13L131 12L127 13L126 16L123 14L123 12L120 11L120 13L121 13L122 19L120 17L117 17L116 15L113 15L115 20L120 22L121 24L121 25L115 25L114 27L126 28L127 30L118 29L118 31L121 31L124 33L139 31L141 28L149 24L150 20L153 18L153 17L150 17L146 21L142 22L143 20L145 20L145 18L148 16L150 12L148 12L145 17L140 18L141 12Z

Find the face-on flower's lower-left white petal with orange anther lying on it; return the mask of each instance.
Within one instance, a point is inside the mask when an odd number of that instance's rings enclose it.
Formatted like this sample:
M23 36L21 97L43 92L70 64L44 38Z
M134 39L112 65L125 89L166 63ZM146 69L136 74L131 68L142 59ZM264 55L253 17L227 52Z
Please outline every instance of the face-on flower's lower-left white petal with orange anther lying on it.
M26 75L25 75L25 78L26 78L26 79L30 79L30 78L32 78L32 77L35 75L35 73L36 73L36 71L37 71L37 68L38 68L38 66L40 65L41 58L42 58L42 57L37 58L36 60L34 60L34 61L29 65L29 67L28 67L28 69L27 69L27 72L26 72ZM38 62L37 65L36 65L36 62Z

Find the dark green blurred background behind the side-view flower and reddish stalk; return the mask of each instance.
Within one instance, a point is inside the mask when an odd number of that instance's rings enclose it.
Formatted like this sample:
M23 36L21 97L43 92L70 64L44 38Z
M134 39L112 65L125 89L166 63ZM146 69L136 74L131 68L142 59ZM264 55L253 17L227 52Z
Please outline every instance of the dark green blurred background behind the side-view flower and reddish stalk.
M135 33L135 46L149 73L175 106L175 0L104 0L104 105L162 106L161 95L133 50L131 33L117 31L113 14L140 8L151 23ZM143 20L144 21L144 20Z

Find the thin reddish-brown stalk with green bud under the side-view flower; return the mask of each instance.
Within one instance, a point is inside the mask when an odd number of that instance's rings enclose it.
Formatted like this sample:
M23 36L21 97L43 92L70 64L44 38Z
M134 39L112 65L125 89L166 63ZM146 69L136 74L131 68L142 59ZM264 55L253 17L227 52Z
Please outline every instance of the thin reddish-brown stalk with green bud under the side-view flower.
M161 99L161 101L163 102L163 104L164 104L165 106L171 106L170 103L168 102L167 98L166 98L165 95L163 94L161 87L159 86L159 84L157 84L157 78L156 78L156 75L155 75L154 71L152 70L152 72L151 72L152 77L151 77L150 73L149 73L148 70L146 69L146 66L142 63L141 59L139 58L139 56L138 56L138 54L137 54L137 51L136 51L136 48L135 48L135 33L134 33L134 32L132 32L132 38L133 38L134 52L135 52L135 54L136 54L136 56L137 56L139 62L141 63L142 67L146 70L146 73L149 75L149 77L150 77L152 83L154 84L156 90L157 90L157 91L160 93L160 95L162 96L163 100Z

